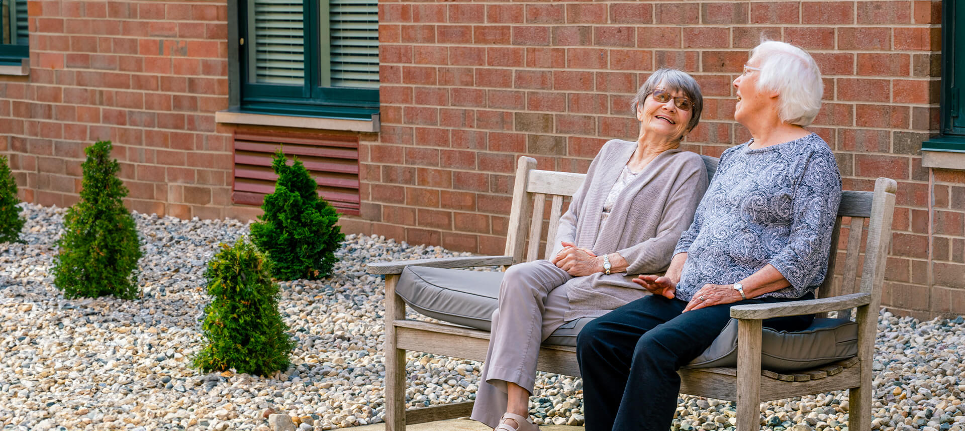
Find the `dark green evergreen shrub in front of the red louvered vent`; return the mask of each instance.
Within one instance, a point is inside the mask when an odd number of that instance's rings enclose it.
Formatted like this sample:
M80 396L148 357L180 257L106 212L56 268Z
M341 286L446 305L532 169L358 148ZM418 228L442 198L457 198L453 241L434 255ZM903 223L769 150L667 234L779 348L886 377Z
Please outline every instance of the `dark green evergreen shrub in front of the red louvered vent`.
M251 226L252 241L271 259L272 275L277 279L325 277L345 239L335 225L339 214L318 197L315 179L297 158L289 166L279 149L271 166L278 182L275 193L264 197L260 222Z

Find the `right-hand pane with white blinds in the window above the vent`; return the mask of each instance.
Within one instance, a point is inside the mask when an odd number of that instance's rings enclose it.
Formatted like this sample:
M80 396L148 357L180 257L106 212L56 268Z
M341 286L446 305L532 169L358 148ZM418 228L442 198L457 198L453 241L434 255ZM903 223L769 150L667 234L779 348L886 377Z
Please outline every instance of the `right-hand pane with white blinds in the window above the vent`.
M330 85L377 89L377 0L330 0L328 4Z

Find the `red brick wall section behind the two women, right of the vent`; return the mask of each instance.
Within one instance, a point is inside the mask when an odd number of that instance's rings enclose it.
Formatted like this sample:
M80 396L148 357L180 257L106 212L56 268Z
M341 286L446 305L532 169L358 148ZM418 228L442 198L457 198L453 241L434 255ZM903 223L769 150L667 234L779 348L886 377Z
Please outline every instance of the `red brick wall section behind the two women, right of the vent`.
M965 313L965 174L923 169L920 156L938 128L940 13L939 1L899 0L382 1L382 128L361 155L371 223L360 228L501 254L513 161L585 172L606 140L636 137L629 100L658 67L701 83L703 121L686 147L719 155L749 138L732 120L731 80L764 35L820 65L811 129L838 155L844 187L899 183L884 303Z

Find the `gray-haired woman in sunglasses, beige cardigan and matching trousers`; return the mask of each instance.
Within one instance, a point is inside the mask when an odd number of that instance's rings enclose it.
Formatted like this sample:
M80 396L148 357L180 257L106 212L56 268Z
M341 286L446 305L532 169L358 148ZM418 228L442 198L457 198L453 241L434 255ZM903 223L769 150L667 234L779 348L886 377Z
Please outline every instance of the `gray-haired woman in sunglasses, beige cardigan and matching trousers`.
M560 220L554 257L506 271L472 418L536 430L528 413L540 341L643 297L635 275L667 268L707 186L703 159L679 148L702 108L697 81L679 70L657 70L640 88L636 142L612 140L596 154Z

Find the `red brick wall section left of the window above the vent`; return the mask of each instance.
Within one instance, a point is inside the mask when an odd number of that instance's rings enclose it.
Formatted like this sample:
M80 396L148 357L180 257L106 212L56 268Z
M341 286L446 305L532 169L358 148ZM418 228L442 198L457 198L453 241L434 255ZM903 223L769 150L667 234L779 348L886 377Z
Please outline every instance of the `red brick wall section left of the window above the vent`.
M244 217L231 206L227 5L31 0L30 75L0 76L0 130L21 199L70 205L83 148L114 142L131 209ZM3 141L0 141L3 142Z

